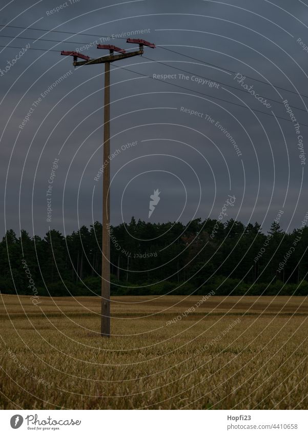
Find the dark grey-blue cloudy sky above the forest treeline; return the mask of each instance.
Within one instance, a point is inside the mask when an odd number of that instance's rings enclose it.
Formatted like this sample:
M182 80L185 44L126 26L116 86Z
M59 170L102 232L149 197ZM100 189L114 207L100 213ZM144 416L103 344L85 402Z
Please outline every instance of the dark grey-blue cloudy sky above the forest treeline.
M234 195L224 221L258 221L267 230L282 210L285 230L300 225L308 208L306 165L301 164L308 151L304 2L0 4L2 233L22 227L43 235L49 226L70 233L101 220L102 185L95 177L102 164L104 65L74 69L72 57L60 56L60 50L139 30L146 30L141 37L157 48L111 67L111 152L120 150L111 166L112 223L132 215L148 221L150 195L158 189L151 222L217 219L228 195ZM125 35L110 44L135 49ZM94 46L83 53L94 58L104 52ZM235 73L246 77L242 84ZM172 77L159 81L153 74ZM215 80L219 87L195 78ZM243 84L253 86L271 107L243 92ZM300 134L283 100L292 107ZM48 222L46 191L55 158Z

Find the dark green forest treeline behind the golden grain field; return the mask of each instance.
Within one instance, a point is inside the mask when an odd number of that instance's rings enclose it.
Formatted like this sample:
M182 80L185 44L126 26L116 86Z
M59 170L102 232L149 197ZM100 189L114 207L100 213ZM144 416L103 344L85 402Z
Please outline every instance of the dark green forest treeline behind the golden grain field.
M307 217L308 218L308 217ZM112 295L308 295L308 229L233 219L136 221L110 226ZM100 222L44 238L7 231L0 242L0 290L6 294L100 294Z

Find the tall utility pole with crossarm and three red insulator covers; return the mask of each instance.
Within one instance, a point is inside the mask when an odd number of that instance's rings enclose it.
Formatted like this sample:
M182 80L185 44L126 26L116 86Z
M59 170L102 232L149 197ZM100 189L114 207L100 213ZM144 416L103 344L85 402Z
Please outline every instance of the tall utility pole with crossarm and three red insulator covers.
M155 48L155 44L144 39L128 38L127 43L139 44L139 50L127 53L114 45L97 45L97 48L109 50L109 56L90 59L77 51L61 51L61 55L73 56L74 67L82 65L105 64L104 84L104 152L102 174L102 256L101 256L101 337L110 337L110 63L116 60L143 54L143 46ZM120 54L114 55L114 52ZM77 60L78 58L84 60Z

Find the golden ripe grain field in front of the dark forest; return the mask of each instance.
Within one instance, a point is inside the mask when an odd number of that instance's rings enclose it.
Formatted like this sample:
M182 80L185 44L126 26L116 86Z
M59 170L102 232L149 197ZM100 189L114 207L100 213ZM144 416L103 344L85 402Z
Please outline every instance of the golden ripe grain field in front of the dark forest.
M307 300L201 300L0 295L0 408L306 409Z

